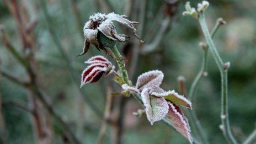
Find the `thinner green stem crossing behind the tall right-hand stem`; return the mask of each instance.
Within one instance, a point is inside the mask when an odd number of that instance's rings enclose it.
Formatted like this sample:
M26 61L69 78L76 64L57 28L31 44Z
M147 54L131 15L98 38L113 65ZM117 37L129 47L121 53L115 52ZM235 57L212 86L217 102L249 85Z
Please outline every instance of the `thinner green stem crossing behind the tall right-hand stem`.
M218 30L218 28L220 28L220 25L221 24L217 20L214 28L211 31L211 38L214 38L214 35L216 34L216 31ZM202 58L202 65L201 65L200 71L199 71L198 75L195 77L195 79L192 82L191 87L189 89L190 102L194 101L193 99L195 97L194 95L195 95L195 92L196 92L196 88L198 87L198 83L199 83L200 79L202 78L204 72L206 72L207 60L208 60L208 50L209 50L209 45L206 45L206 47L204 49L204 55L203 55L203 58ZM195 111L194 110L189 110L189 115L191 117L191 122L195 126L195 129L198 132L201 141L204 142L204 143L209 143L209 141L207 140L207 137L205 135L205 132L202 129L200 121L198 120L198 117L196 116Z

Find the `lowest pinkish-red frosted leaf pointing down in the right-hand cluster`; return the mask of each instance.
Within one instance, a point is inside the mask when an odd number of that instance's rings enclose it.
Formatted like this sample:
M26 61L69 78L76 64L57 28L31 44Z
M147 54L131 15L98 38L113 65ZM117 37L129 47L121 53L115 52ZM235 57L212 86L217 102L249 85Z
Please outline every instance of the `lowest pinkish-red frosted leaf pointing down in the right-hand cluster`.
M190 127L188 120L185 118L182 110L175 104L168 102L169 111L166 118L172 122L174 128L184 137L188 138L190 143L193 143L193 138L190 135Z

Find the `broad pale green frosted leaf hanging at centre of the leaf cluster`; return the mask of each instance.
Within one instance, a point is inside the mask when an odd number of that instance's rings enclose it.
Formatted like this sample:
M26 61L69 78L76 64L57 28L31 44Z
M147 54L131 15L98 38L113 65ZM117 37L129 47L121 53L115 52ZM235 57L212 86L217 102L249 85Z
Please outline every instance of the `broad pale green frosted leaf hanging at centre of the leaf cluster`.
M167 115L169 106L167 101L161 97L154 97L148 93L148 88L144 88L141 92L142 102L145 105L145 111L148 121L151 125L155 121L162 120Z

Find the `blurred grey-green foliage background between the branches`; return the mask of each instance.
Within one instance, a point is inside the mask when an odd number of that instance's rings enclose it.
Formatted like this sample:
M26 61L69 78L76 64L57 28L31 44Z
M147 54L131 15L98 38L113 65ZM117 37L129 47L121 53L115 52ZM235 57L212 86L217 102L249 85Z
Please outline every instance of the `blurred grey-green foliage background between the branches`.
M81 30L77 28L71 1L49 0L46 2L58 38L77 75L80 75L83 68L86 67L83 63L85 60L93 55L105 56L105 54L104 52L99 53L91 46L88 54L76 57L82 51L84 38L81 36L82 28ZM83 23L87 22L89 15L103 12L94 0L78 0L77 2ZM109 2L115 8L116 13L124 13L125 0L109 0ZM198 2L191 1L191 5L195 6ZM206 13L209 28L212 28L218 17L222 17L227 22L218 30L214 41L223 60L231 62L228 73L230 122L234 135L239 138L239 141L243 141L255 129L256 122L256 1L211 0L209 2L210 7ZM86 103L83 110L84 116L81 118L81 111L77 105L81 99L77 97L77 89L47 30L40 4L37 1L31 1L31 3L37 9L36 16L39 21L35 27L35 49L44 90L51 96L49 99L54 102L53 106L57 113L68 122L79 139L83 143L94 143L97 140L102 118L95 115ZM200 41L204 41L204 37L197 20L182 17L184 3L185 1L179 2L177 12L172 18L167 33L164 34L161 43L157 46L157 51L139 57L133 80L142 72L158 69L165 74L162 84L164 89L178 90L177 77L180 75L186 78L186 89L189 89L201 65L202 51L198 44ZM147 42L151 42L153 36L161 28L164 4L163 1L158 0L147 1L142 35L142 39L146 39ZM136 19L136 15L131 15L131 19ZM5 27L12 44L23 54L17 25L2 1L0 1L0 24ZM138 33L140 32L138 31ZM14 60L2 44L0 45L0 60L1 67L6 68L19 78L27 79L24 77L24 68ZM193 109L198 113L209 141L223 143L225 139L219 129L221 123L220 73L212 56L209 57L207 67L208 76L200 81ZM101 111L104 111L106 86L110 83L109 81L110 78L103 78L99 83L83 87L88 97L93 99ZM133 81L133 83L135 82ZM116 84L114 86L119 87ZM24 103L28 102L24 88L4 77L1 81L1 93L3 101L18 99ZM134 99L129 99L127 105L129 104L131 106L126 106L124 114L124 143L188 143L185 138L161 122L156 122L151 126L145 117L134 118L129 109L132 109L132 105L139 106ZM3 105L3 115L6 122L7 143L34 143L33 125L30 115L26 111L13 105ZM134 122L129 124L132 119ZM81 122L83 127L79 127ZM54 143L62 143L61 130L55 129L54 131ZM110 141L111 127L108 126L104 143L110 143Z

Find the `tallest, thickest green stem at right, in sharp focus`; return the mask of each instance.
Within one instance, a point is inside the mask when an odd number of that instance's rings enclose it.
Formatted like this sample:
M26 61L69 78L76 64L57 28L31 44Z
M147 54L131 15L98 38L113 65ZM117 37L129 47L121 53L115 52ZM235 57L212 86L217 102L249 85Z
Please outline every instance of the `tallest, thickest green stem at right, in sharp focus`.
M205 14L201 12L199 15L199 23L201 25L202 32L204 33L207 44L209 45L210 51L214 56L214 59L217 63L217 66L221 73L221 121L222 121L222 132L226 137L226 140L230 143L237 143L234 138L231 129L230 129L230 121L228 119L228 92L227 92L227 69L224 68L224 63L221 60L220 55L214 45L214 42L211 39L211 35L206 25Z

